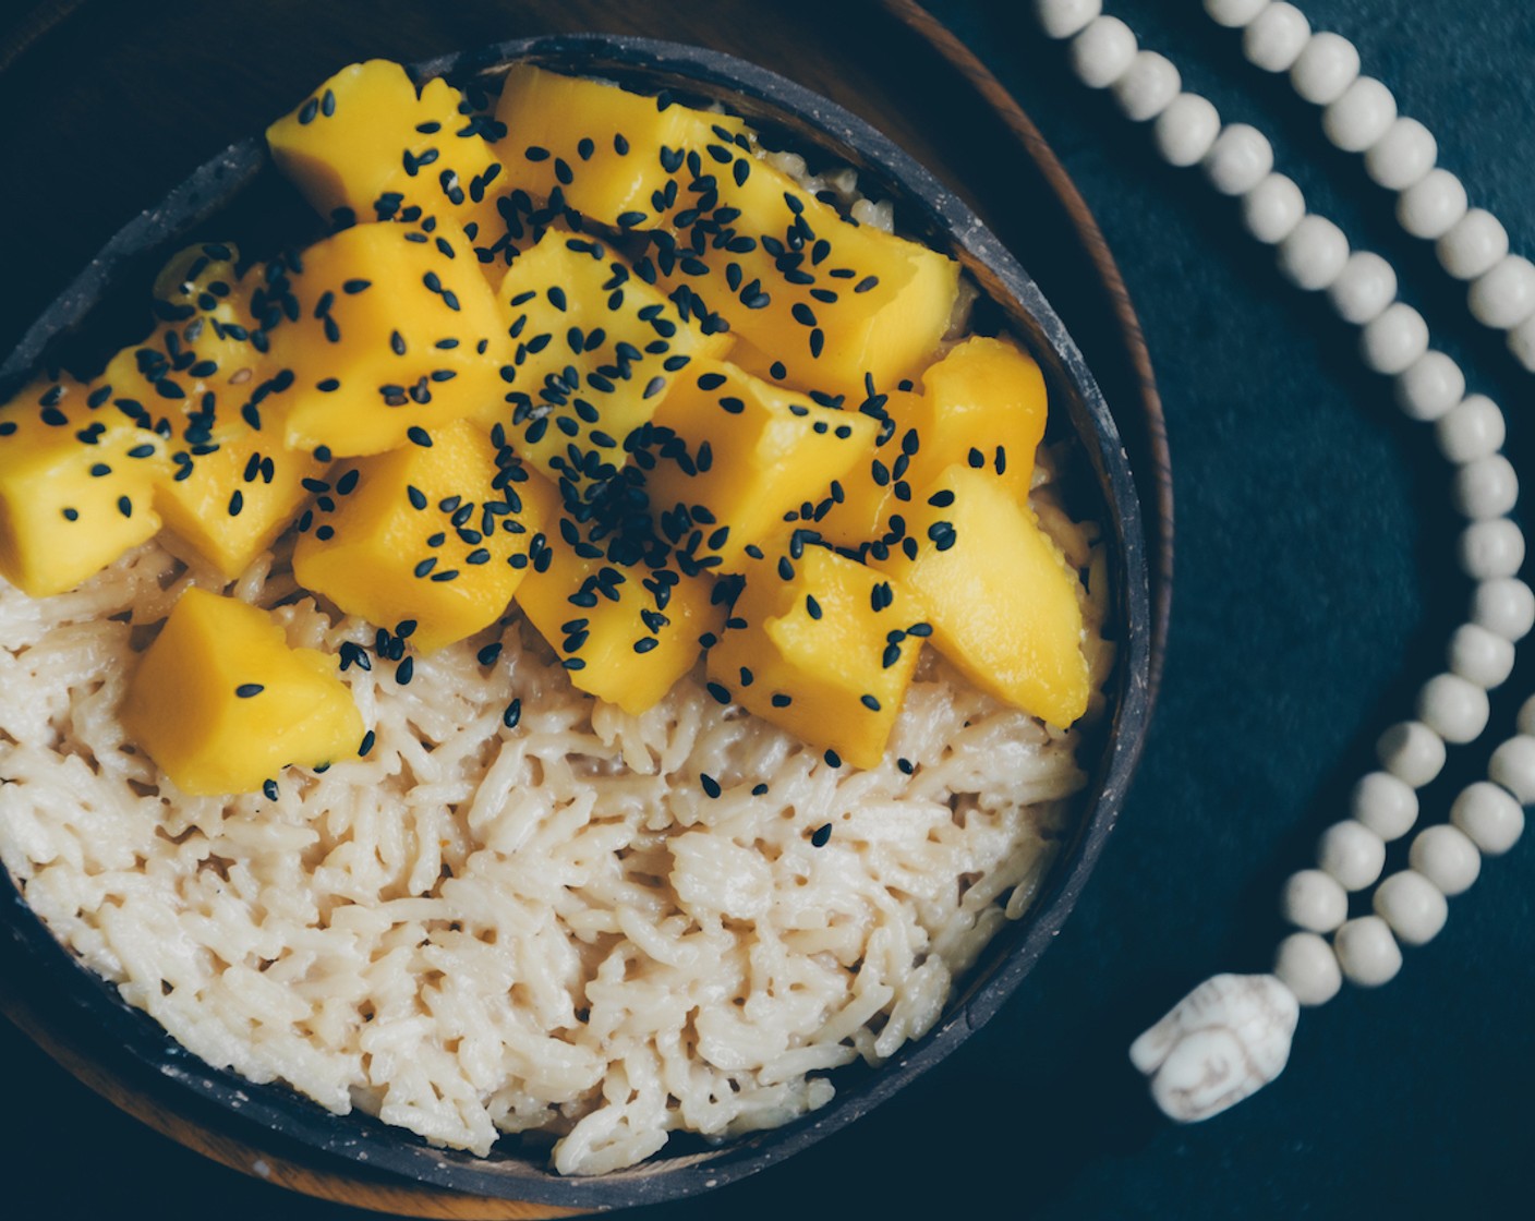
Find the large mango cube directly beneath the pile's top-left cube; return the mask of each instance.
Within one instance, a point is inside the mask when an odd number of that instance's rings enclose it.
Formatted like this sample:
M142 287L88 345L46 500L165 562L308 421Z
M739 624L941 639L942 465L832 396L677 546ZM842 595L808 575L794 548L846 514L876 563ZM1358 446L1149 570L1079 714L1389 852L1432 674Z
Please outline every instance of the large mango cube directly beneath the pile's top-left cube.
M381 223L302 252L272 290L298 315L272 332L287 448L379 453L500 401L511 339L467 250L450 224Z

